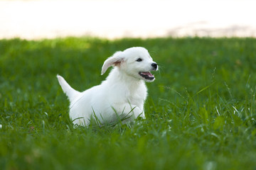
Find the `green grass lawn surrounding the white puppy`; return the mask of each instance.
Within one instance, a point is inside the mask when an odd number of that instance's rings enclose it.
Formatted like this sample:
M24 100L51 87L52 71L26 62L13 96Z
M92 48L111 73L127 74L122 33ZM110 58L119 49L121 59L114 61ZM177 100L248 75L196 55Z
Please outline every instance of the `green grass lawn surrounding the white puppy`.
M56 74L83 91L117 50L160 65L146 120L73 128ZM0 169L256 169L256 39L0 40Z

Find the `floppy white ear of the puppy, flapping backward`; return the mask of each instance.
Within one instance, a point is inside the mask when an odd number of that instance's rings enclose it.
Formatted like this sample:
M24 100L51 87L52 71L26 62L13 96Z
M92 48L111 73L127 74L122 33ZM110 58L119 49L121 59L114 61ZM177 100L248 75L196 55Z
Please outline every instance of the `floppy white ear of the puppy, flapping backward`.
M121 51L115 52L112 57L109 57L107 60L105 60L102 66L102 74L104 74L110 66L118 66L119 64L121 64L121 62L124 60L124 57L122 57L121 54Z

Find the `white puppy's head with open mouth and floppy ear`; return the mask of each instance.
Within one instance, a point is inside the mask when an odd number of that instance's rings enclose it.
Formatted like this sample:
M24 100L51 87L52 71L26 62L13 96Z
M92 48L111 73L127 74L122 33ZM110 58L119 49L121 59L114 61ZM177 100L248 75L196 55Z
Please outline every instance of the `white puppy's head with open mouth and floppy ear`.
M158 70L158 65L144 47L131 47L123 52L115 52L104 62L102 74L110 66L118 67L119 72L144 81L154 81L155 78L151 71Z

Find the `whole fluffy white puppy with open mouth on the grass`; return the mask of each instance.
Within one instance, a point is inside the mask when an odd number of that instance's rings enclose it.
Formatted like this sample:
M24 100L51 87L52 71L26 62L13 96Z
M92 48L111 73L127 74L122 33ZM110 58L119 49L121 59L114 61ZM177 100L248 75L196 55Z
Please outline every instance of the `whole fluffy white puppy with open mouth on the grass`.
M102 84L91 89L75 91L63 77L60 86L70 100L70 118L74 124L89 125L95 118L100 123L122 120L124 123L138 116L145 118L144 101L147 90L144 81L154 81L150 71L158 69L144 47L131 47L115 52L102 66L102 74L114 66Z

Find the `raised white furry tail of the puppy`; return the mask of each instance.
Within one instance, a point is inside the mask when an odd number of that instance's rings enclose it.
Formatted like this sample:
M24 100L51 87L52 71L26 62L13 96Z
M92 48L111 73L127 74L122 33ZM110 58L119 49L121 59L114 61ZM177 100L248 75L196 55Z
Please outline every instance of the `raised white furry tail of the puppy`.
M75 99L80 94L80 92L73 89L67 83L67 81L65 81L65 79L60 75L57 75L57 78L61 88L63 89L63 92L68 96L68 99L70 100L70 102L73 101L73 99Z

